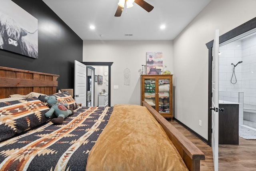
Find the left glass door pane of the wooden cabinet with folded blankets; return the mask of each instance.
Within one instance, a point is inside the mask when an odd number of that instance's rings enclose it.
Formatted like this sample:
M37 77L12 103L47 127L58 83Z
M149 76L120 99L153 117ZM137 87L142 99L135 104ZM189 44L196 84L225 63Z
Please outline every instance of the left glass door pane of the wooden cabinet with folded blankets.
M144 80L144 100L151 105L154 109L156 108L156 80L145 79Z

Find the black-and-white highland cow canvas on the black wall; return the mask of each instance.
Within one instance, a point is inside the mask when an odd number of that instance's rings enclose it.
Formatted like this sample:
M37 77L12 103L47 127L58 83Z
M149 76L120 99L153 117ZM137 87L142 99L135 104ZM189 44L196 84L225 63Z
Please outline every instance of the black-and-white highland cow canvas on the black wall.
M10 0L1 1L0 28L0 49L38 59L38 20L34 16Z

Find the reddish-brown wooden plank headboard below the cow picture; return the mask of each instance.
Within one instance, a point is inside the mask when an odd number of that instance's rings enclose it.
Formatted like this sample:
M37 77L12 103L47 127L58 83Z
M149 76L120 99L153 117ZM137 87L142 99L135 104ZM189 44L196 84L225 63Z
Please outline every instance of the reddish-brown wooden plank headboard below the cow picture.
M43 94L57 92L59 75L0 66L0 99L12 94L26 95L32 91Z

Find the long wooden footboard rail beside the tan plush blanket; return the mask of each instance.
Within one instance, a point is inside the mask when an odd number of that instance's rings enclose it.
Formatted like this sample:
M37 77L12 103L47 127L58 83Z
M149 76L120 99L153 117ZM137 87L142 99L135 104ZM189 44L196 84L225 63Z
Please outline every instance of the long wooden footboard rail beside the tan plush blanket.
M152 106L146 101L142 101L143 106L154 115L156 120L164 128L164 131L179 151L184 163L190 171L200 170L200 160L205 160L204 153L189 141L182 133L178 131L170 122L168 122L162 115L160 115Z

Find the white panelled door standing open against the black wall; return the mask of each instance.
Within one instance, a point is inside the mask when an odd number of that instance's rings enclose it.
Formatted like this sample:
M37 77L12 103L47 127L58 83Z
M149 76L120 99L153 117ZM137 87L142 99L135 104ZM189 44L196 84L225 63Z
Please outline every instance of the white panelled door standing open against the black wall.
M86 106L86 65L75 60L75 90L74 97L76 103Z

